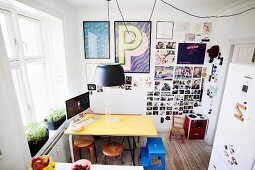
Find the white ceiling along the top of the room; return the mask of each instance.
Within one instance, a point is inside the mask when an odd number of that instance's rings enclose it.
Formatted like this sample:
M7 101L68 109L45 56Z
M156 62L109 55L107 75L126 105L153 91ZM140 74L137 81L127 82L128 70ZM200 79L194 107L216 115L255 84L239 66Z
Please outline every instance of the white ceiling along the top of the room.
M106 0L65 0L78 10L106 10ZM220 11L235 3L248 0L164 0L187 11ZM154 0L118 0L121 10L151 10ZM111 0L111 9L116 9L116 0ZM157 0L155 9L167 10L170 7Z

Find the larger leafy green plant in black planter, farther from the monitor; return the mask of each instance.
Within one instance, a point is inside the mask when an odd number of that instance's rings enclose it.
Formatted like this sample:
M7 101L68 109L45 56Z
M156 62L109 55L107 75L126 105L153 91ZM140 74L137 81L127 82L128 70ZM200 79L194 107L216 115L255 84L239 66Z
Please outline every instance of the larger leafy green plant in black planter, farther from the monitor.
M43 147L49 139L49 130L45 122L32 122L25 126L30 153L32 156Z

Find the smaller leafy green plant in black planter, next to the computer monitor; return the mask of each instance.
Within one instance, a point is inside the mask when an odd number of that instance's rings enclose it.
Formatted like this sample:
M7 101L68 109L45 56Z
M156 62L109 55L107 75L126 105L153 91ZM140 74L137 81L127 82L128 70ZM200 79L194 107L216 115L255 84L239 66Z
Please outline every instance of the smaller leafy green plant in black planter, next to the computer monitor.
M48 128L50 130L56 130L60 125L66 120L66 114L64 109L53 110L47 117L46 122L48 122Z

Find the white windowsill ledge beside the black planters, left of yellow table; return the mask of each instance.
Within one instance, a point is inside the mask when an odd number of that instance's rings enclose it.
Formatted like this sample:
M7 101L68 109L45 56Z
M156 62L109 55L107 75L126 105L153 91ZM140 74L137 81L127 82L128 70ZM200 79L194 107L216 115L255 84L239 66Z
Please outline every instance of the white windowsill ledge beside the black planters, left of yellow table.
M50 150L56 144L55 139L57 139L66 128L67 122L65 121L57 130L49 130L48 141L43 145L43 147L38 151L38 153L34 157L49 153Z

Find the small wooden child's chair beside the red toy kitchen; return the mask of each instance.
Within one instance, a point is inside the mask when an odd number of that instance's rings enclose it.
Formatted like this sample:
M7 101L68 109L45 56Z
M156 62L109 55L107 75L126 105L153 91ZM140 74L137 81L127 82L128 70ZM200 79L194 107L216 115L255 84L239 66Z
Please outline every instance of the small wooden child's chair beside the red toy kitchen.
M173 115L172 116L172 127L170 130L169 140L171 141L172 136L180 135L182 139L182 144L184 144L185 140L185 131L183 128L184 117Z

